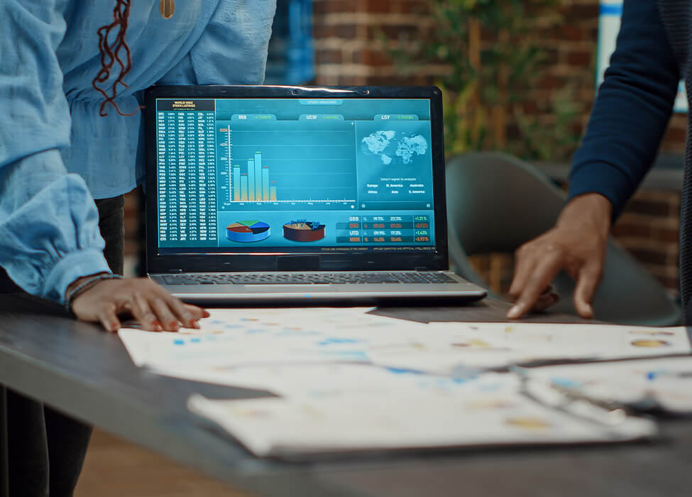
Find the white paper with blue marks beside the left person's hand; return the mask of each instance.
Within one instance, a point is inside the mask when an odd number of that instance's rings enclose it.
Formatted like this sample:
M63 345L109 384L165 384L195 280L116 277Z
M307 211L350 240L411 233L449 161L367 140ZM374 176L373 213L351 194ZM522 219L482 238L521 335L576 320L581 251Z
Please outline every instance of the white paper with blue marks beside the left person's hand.
M201 329L119 331L133 362L152 368L366 362L367 345L424 324L366 314L366 309L211 310Z

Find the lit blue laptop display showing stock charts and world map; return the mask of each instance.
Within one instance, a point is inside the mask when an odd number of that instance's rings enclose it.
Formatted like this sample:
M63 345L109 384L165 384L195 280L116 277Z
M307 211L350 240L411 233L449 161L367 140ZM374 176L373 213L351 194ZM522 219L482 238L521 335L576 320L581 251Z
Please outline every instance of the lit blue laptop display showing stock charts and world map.
M427 99L157 99L158 245L434 250Z

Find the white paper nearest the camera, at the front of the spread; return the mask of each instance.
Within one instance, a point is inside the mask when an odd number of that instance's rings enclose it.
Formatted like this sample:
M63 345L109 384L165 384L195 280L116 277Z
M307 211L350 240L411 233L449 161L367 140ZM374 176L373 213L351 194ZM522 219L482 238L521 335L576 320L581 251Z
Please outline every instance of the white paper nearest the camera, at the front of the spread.
M368 366L363 366L368 367ZM367 389L367 388L366 388ZM192 412L216 422L254 454L286 456L373 449L615 442L652 437L649 420L580 409L559 393L520 391L517 376L486 374L468 382L377 395L297 395L209 400L193 395ZM559 400L556 400L559 398ZM551 403L559 403L555 409ZM583 406L582 406L583 407Z

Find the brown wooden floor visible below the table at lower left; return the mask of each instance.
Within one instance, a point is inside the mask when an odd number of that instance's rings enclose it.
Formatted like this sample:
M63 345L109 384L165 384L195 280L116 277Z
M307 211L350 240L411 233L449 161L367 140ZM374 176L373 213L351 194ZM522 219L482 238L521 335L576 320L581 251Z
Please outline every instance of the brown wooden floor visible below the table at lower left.
M75 497L250 497L229 486L94 430Z

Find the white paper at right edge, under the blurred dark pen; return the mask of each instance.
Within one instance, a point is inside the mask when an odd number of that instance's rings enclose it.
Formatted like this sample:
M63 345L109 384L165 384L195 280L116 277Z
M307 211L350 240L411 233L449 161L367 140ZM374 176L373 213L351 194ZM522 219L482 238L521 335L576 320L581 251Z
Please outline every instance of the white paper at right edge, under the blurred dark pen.
M692 414L692 356L522 368L522 374L604 404Z

